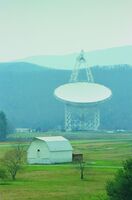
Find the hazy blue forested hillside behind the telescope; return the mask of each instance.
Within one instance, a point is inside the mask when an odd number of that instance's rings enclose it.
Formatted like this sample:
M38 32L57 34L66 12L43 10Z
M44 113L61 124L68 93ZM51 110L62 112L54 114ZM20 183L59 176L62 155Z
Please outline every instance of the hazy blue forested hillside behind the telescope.
M100 129L132 129L132 66L94 66L95 82L108 86L110 101L101 105ZM29 63L0 64L0 110L14 127L42 130L63 128L64 107L54 89L67 83L70 70ZM80 78L83 77L80 74Z

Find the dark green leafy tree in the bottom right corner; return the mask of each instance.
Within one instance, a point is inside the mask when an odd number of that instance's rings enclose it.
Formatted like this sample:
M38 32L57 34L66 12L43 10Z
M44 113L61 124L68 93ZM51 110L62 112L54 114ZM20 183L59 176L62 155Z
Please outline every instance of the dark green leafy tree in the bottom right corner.
M132 159L126 160L114 180L108 181L106 191L110 200L132 199Z

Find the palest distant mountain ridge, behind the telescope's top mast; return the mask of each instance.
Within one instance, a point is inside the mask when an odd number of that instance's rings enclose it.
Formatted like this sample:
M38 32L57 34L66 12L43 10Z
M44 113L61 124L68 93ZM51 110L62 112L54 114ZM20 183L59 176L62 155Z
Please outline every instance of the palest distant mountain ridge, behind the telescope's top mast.
M40 66L47 66L49 68L67 70L73 68L78 54L79 52L61 56L33 56L25 58L23 61ZM132 65L132 46L115 47L86 52L85 56L90 66L118 64Z

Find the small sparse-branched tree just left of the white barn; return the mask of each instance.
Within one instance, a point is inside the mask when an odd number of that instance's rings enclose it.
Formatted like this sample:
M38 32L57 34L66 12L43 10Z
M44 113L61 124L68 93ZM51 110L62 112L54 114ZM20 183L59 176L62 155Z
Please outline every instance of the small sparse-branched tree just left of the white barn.
M6 152L2 159L3 165L9 172L12 180L16 179L17 172L22 169L24 163L24 148L22 145L17 145L12 150Z

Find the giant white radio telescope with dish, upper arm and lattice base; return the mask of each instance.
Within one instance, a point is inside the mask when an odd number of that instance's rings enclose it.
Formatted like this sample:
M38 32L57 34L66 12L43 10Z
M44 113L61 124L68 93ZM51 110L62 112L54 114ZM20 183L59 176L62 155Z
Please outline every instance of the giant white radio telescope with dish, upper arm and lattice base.
M82 65L86 70L86 81L78 80ZM90 67L81 51L76 59L70 83L56 88L54 95L65 105L66 131L97 130L100 125L99 105L108 100L112 92L104 85L94 83Z

